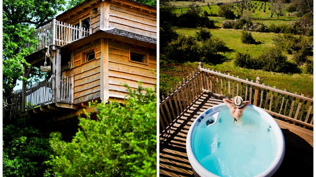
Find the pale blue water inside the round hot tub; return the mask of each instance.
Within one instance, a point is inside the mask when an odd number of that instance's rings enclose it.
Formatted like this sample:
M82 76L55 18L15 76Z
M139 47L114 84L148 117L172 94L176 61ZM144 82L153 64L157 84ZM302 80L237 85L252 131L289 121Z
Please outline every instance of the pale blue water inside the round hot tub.
M241 123L234 123L224 106L218 121L206 126L211 117L198 122L192 134L192 149L198 162L221 177L253 177L265 171L276 153L271 125L247 108Z

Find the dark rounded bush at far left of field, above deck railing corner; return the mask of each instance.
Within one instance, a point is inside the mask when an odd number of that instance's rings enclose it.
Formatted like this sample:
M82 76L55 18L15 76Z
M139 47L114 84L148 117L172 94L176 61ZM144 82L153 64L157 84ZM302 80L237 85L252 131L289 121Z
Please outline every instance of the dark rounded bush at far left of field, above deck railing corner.
M168 59L178 61L196 61L200 57L199 48L194 37L179 35L167 45L165 55Z

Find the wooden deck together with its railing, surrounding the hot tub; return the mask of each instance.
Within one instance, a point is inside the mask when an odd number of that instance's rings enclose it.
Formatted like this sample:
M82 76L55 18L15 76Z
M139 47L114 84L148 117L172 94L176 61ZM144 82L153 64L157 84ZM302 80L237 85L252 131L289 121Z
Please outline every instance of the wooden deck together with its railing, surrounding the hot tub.
M223 103L225 96L241 96L273 116L285 139L285 155L274 177L313 176L313 104L303 94L291 93L256 81L240 79L199 67L171 94L160 100L160 177L193 177L186 138L203 111ZM288 167L295 170L289 170Z

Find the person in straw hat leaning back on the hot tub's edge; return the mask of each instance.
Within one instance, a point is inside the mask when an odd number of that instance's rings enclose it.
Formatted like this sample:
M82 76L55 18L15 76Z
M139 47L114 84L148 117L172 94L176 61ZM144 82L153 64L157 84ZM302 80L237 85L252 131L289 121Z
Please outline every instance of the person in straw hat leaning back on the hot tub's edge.
M232 118L234 118L234 122L241 119L243 110L245 110L249 105L249 101L243 101L240 96L235 96L233 100L230 98L224 98L223 101L231 110L231 115Z

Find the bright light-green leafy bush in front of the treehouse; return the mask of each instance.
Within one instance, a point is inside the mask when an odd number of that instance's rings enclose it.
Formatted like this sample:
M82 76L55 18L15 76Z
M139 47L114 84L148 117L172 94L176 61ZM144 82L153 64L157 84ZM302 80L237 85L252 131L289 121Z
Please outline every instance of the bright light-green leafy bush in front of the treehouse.
M71 142L51 133L56 155L46 163L63 177L156 177L156 95L128 88L125 104L92 104Z

